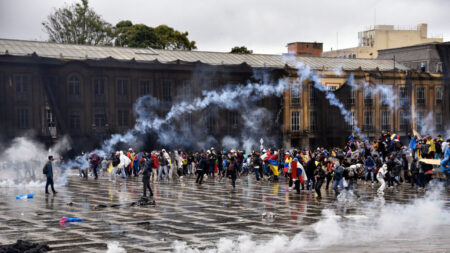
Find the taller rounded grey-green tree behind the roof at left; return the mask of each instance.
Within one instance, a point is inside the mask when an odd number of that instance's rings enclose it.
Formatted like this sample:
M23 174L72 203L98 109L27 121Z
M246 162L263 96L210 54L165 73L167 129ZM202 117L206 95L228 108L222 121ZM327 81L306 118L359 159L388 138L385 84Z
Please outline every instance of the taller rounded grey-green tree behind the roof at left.
M59 8L42 22L49 41L66 44L111 45L111 24L89 8L88 0Z

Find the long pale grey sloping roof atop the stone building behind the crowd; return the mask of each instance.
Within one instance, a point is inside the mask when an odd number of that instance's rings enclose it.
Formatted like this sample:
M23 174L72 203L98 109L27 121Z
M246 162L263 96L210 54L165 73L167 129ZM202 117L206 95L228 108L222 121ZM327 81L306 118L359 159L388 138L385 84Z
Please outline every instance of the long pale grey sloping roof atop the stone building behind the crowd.
M0 39L0 56L29 56L36 54L40 57L66 60L102 60L114 58L116 60L161 63L201 62L209 65L239 65L246 63L254 68L284 68L286 64L295 67L298 63L308 65L312 69L326 70L358 70L392 71L392 60L374 59L342 59L327 57L295 57L271 54L231 54L206 51L172 51L151 48L127 48L112 46L88 46L73 44L57 44L42 41L25 41ZM395 63L398 70L406 71L407 67Z

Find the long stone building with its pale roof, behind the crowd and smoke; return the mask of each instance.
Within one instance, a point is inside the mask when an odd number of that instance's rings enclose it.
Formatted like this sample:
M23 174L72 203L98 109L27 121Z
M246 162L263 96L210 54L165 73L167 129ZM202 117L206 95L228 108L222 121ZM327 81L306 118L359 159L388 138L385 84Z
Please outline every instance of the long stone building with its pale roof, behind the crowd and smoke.
M299 64L319 75L370 137L388 128L406 135L417 124L414 119L400 118L415 115L415 111L420 111L422 118L429 111L444 111L437 102L440 74L411 72L392 60L236 55L0 39L0 138L11 139L32 130L39 139L51 143L67 134L75 148L78 143L86 150L113 133L131 129L136 120L133 106L143 95L158 98L157 113L164 115L171 105L202 97L205 90L249 81L298 82ZM365 97L363 89L352 91L346 83L350 74L356 83L392 85L395 94L401 94L409 106L398 104L395 112L385 112L379 94ZM301 87L295 92L286 90L282 97L257 101L257 107L270 115L264 134L274 140L271 145L341 145L351 134L348 123L323 92L311 87L311 81L306 80ZM206 136L221 140L240 133L245 109L207 107L183 114L174 124L201 129L199 141ZM155 136L148 138L143 141L153 143L150 148L158 146Z

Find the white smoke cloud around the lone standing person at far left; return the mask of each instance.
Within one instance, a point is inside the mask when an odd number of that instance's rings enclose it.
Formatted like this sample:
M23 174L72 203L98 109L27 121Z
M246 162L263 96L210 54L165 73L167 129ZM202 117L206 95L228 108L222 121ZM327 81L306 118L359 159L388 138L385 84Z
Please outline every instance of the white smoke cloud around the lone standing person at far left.
M65 184L65 168L59 163L59 156L70 149L67 136L61 138L49 150L32 137L17 137L0 153L0 186L40 186L46 178L42 169L53 155L53 174L56 184Z

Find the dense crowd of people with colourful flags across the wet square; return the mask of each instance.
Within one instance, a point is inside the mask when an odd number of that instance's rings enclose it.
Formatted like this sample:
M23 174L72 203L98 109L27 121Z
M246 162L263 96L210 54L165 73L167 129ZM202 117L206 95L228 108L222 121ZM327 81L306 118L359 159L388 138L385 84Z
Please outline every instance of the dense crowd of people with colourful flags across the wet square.
M201 185L206 176L214 182L229 178L235 188L238 177L254 176L256 181L285 180L289 191L314 190L315 196L321 199L321 191L330 189L330 185L337 196L343 196L340 195L343 191L344 196L351 193L359 197L358 181L371 187L379 184L377 192L380 195L384 194L386 186L396 191L401 184L424 190L433 176L437 177L433 166L438 161L446 185L449 185L450 139L444 141L440 136L427 135L423 138L410 136L409 140L405 145L399 136L382 132L373 141L350 136L344 148L332 149L263 149L245 153L241 150L219 151L213 147L199 152L168 152L165 149L136 152L130 148L127 152L117 151L103 158L93 151L86 156L89 167L79 170L80 177L85 179L90 172L96 179L99 174L109 175L112 182L119 180L118 177L126 179L142 175L144 196L147 196L147 190L153 196L151 182L196 177L196 183ZM434 159L434 163L427 159ZM52 185L52 182L50 180L48 184Z

